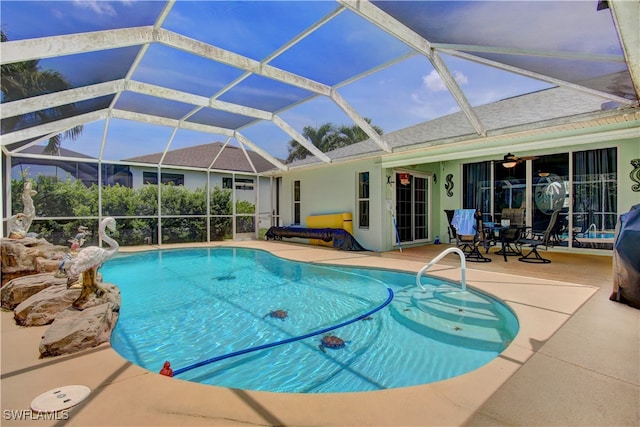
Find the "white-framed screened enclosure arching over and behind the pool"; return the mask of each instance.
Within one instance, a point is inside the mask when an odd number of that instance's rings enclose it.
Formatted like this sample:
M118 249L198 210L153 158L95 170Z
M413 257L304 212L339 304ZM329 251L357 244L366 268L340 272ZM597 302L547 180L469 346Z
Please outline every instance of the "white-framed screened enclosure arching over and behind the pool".
M259 238L283 176L410 150L393 132L460 113L492 136L478 108L555 87L637 107L638 4L3 0L2 235L30 182L56 244L106 216L121 245Z

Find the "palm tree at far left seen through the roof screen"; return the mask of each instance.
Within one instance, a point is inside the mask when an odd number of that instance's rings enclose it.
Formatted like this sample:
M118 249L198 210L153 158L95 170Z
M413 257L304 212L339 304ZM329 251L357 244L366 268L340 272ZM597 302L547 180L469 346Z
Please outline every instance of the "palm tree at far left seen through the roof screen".
M0 41L6 42L7 35L0 32ZM59 92L73 87L57 71L42 70L39 60L16 62L2 65L0 70L0 89L2 102L17 101L47 93ZM75 112L75 104L46 108L32 113L2 120L2 133L11 132L20 125L28 123L45 123L62 117L69 117ZM76 126L62 134L49 138L44 149L45 154L60 155L60 145L64 138L77 139L82 133L82 126Z

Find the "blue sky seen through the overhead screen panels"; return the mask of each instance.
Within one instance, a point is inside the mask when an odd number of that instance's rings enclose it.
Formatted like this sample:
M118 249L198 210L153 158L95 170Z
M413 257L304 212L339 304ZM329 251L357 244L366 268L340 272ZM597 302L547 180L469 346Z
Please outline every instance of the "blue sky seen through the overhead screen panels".
M589 4L588 8L584 7L585 3L562 3L557 7L566 11L567 15L551 15L553 22L549 22L550 15L544 8L535 6L535 3L540 2L532 3L535 7L527 10L523 8L530 3L499 3L501 8L513 9L513 19L492 18L495 15L495 9L492 9L496 7L495 4L438 3L438 9L431 12L441 13L439 19L442 22L435 22L434 28L427 28L426 31L436 31L438 25L453 26L448 27L447 31L459 37L460 40L455 41L461 43L466 40L465 37L472 36L467 32L470 31L472 22L477 22L478 14L486 14L492 26L488 27L490 31L483 33L481 42L485 44L499 44L509 35L517 37L517 40L509 40L506 44L515 43L532 49L582 49L597 53L617 53L612 51L615 40L612 40L610 28L602 24L603 20L610 17L593 13L594 2L586 2ZM549 4L555 3L558 2ZM400 7L401 4L398 2L394 7ZM160 1L3 0L0 3L2 29L10 40L153 25L163 6L164 2ZM260 61L336 7L337 3L324 1L178 1L163 28ZM448 20L452 16L452 9L456 9L455 22ZM416 16L415 19L419 22L421 18ZM495 22L491 22L492 19ZM528 31L515 31L517 28L526 29L535 25L545 28L544 31L536 31L536 37L531 37L531 32ZM568 36L572 34L571 31L585 34L585 37L577 39L587 38L588 40L583 40L586 47L563 45L563 40L576 40L576 37ZM336 34L340 37L335 37ZM74 58L43 59L40 64L42 68L61 70L74 85L82 86L123 78L137 52L137 48L125 48L76 55ZM353 13L344 12L274 58L270 65L333 85L376 64L409 53L410 49L403 43ZM455 57L443 55L443 58L473 106L549 86ZM227 65L212 63L166 46L153 45L132 78L201 96L212 96L241 74L241 70ZM264 80L266 79L257 76L251 77L234 90L222 94L219 99L278 110L280 105L309 95L301 89L284 91L280 83L263 85ZM385 133L459 110L429 61L421 55L410 56L340 87L338 92L362 116L372 119L373 124L381 127ZM171 108L171 105L164 102L145 102L143 98L132 96L123 97L118 107L122 105L128 108L135 103L146 103L149 106L153 104L155 111ZM182 114L179 108L172 110L174 114L177 111ZM299 132L305 126L320 126L327 122L352 124L340 108L330 99L321 96L281 111L279 115ZM272 155L286 158L291 138L272 123L259 123L241 129L240 132ZM65 142L64 146L97 157L100 155L100 142L104 133L104 121L89 123L84 126L79 140ZM103 158L120 160L163 151L170 140L172 129L112 119L106 135ZM224 140L225 137L221 135L179 130L171 148Z

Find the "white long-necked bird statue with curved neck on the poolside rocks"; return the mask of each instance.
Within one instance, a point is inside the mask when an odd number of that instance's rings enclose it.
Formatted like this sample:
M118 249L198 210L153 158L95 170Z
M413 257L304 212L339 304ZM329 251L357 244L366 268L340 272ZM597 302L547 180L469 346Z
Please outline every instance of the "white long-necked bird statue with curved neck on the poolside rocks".
M116 231L116 220L114 218L107 217L103 219L98 229L100 239L109 245L109 249L98 246L87 246L78 252L78 255L69 268L72 276L77 276L82 273L82 292L73 303L75 307L79 306L79 301L86 300L91 294L100 296L105 292L105 290L96 283L97 271L102 264L114 256L120 248L118 242L107 235L107 228L112 232Z

